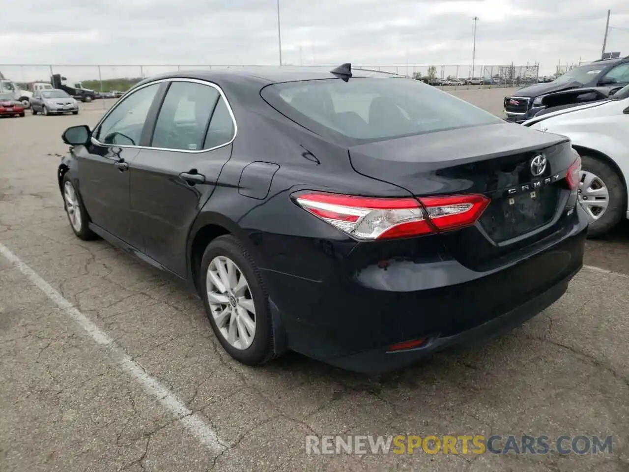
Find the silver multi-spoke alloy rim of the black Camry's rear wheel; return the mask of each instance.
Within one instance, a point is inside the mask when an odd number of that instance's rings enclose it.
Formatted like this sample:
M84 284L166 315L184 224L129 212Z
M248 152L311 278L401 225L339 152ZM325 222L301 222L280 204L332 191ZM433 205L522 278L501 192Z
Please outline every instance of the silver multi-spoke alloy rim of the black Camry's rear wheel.
M208 304L216 327L230 346L247 349L255 336L255 305L247 278L229 257L216 256L206 276Z

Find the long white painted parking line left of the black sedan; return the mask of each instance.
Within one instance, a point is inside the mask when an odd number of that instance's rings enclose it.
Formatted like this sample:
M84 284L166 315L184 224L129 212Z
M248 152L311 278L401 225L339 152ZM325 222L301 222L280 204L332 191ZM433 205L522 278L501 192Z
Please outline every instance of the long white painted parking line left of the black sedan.
M138 362L131 359L124 349L111 339L105 332L101 331L89 318L79 312L77 308L66 300L57 290L42 279L33 269L27 266L13 254L8 247L0 243L0 254L2 254L18 271L23 273L37 288L43 291L50 300L64 310L67 315L74 320L89 336L98 344L106 346L111 356L120 364L121 368L135 378L143 390L154 396L162 405L169 410L175 418L179 419L191 433L209 451L216 454L226 449L225 442L221 441L214 429L197 413L193 413L186 407L185 403L168 388L153 378Z

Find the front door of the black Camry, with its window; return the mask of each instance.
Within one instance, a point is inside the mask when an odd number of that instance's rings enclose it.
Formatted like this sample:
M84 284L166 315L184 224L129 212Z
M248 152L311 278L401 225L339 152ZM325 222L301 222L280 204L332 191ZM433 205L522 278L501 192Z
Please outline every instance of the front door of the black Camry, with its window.
M140 152L142 130L159 87L140 88L117 103L96 126L91 144L77 150L79 191L92 222L140 250L142 238L133 233L130 215L129 166Z

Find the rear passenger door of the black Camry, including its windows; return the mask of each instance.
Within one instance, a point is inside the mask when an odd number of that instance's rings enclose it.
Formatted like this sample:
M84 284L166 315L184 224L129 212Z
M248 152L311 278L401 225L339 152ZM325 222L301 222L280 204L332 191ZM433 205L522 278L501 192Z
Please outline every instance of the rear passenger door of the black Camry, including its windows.
M130 164L130 206L147 256L186 275L189 228L231 157L236 126L221 89L174 79L150 147Z

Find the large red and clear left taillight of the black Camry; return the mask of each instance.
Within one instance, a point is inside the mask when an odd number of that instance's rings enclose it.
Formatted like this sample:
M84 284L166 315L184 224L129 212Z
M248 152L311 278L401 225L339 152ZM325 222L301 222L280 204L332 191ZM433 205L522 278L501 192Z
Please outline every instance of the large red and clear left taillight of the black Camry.
M483 195L370 198L308 193L296 198L309 213L357 239L391 239L474 224L489 205ZM423 207L422 207L423 205Z

